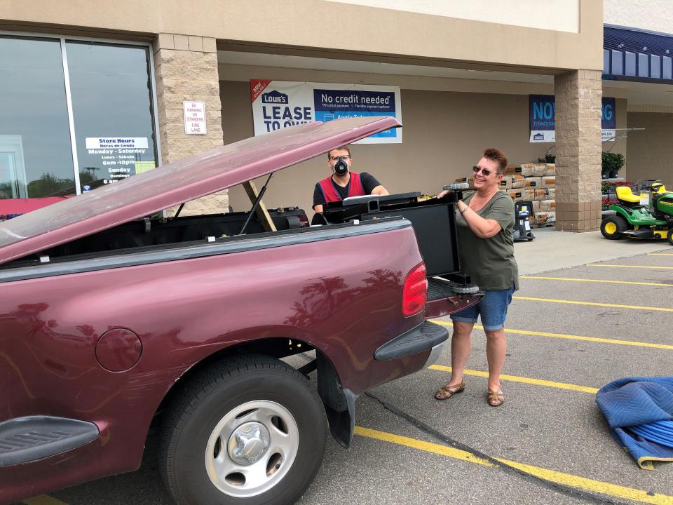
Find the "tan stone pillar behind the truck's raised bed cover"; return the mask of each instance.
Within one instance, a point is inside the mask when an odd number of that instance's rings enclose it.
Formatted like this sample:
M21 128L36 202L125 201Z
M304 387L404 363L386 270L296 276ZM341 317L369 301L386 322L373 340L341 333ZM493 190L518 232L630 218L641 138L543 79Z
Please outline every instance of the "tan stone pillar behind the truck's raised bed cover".
M154 40L154 69L162 163L222 146L215 39L159 34ZM189 100L205 102L207 135L184 133L182 102ZM223 213L228 206L229 196L225 190L186 203L180 215Z

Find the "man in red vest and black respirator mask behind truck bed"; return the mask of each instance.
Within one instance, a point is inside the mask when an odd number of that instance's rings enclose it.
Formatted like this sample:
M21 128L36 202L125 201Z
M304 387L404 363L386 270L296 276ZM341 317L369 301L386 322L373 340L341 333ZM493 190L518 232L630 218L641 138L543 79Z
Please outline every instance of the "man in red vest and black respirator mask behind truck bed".
M338 147L327 153L327 166L332 170L332 175L315 184L313 210L316 213L322 213L325 203L341 201L349 196L389 194L373 175L367 172L351 172L352 162L351 149L348 146Z

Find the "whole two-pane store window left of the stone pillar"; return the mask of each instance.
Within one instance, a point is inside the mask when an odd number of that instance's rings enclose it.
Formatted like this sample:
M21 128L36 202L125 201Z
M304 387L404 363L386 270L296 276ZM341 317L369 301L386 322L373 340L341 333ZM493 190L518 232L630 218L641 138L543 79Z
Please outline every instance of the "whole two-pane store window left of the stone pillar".
M149 46L0 36L0 215L156 166L150 57Z

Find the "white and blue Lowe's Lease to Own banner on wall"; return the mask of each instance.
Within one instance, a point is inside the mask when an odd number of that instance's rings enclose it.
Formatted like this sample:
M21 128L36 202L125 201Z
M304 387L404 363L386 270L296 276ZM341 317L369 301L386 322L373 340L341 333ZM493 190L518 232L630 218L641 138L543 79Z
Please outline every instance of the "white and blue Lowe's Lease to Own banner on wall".
M312 121L393 116L402 122L400 88L364 84L250 81L254 135ZM362 144L400 144L402 128L376 133Z

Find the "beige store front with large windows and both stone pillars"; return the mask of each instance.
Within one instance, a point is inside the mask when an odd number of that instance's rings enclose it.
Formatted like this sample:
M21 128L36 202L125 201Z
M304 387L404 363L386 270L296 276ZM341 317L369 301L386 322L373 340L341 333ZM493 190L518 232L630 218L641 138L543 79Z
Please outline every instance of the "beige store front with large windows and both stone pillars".
M120 0L101 11L4 2L0 214L250 137L250 81L263 80L395 88L402 142L353 150L353 168L391 192L436 193L470 175L484 147L503 149L512 165L553 149L557 229L595 230L601 97L615 99L619 129L627 127L630 93L601 81L602 2L517 6ZM529 95L555 95L554 144L530 142ZM191 102L203 105L197 132L186 124ZM324 159L283 170L266 205L308 210L315 182L327 175ZM192 212L228 206L250 208L245 191L193 203Z

